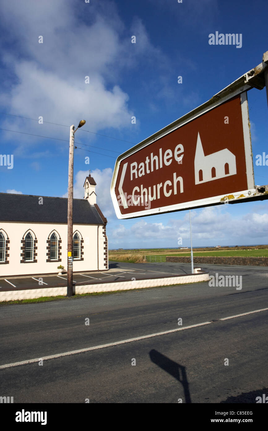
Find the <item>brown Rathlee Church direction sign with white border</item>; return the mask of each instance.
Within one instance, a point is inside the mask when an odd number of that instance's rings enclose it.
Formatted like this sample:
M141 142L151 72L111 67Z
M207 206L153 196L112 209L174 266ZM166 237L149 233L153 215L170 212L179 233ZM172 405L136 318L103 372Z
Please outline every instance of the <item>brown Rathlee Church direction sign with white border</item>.
M248 88L210 100L119 156L111 184L117 217L254 194Z

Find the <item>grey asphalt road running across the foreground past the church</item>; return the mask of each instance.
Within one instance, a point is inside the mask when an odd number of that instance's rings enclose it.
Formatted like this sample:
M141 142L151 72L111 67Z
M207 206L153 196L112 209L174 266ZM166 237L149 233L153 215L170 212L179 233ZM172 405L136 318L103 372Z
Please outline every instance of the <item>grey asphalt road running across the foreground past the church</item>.
M242 275L242 289L203 282L2 306L0 365L182 330L0 369L0 395L14 403L256 403L256 391L268 395L268 311L219 319L268 307L268 268L203 269Z

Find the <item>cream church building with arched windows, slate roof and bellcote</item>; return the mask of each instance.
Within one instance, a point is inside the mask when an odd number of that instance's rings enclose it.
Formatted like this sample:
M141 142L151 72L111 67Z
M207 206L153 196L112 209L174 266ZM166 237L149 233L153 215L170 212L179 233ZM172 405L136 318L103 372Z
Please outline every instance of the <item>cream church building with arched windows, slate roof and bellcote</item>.
M108 269L107 219L89 174L73 203L73 271ZM68 199L0 193L0 276L67 271Z

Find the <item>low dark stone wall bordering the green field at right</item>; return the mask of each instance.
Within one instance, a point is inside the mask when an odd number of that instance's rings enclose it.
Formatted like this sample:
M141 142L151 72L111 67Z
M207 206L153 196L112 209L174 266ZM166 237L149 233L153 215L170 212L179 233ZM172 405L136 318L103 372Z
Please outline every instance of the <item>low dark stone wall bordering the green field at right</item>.
M166 256L166 262L191 263L191 256ZM268 257L194 256L194 265L199 264L268 266Z

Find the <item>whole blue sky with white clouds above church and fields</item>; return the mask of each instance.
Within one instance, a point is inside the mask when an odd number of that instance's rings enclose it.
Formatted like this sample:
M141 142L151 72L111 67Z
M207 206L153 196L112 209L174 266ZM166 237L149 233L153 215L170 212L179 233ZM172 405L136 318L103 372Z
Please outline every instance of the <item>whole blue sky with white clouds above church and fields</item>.
M267 1L0 4L0 128L6 129L0 130L0 153L14 157L13 169L0 166L0 191L67 196L69 127L85 119L86 125L75 134L77 147L84 150L74 153L74 196L83 197L83 182L91 169L97 203L108 219L109 248L177 247L178 237L189 246L188 211L117 219L109 191L114 163L132 144L262 62L268 50L267 30L261 25L268 14ZM216 31L241 33L242 47L209 45L209 34ZM43 44L38 43L40 35ZM132 35L136 44L131 43ZM257 154L268 154L265 90L250 90L248 101L255 161ZM268 184L267 169L254 164L256 184ZM194 246L267 244L266 202L192 210Z

